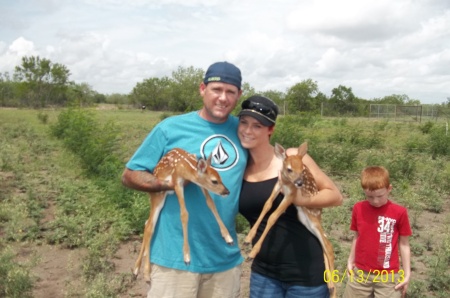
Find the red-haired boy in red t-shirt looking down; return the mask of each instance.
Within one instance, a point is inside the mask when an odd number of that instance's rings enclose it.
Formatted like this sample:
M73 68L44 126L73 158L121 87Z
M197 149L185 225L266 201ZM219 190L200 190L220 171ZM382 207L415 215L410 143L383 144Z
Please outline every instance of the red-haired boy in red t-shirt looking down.
M350 229L355 236L343 297L402 297L411 276L408 212L388 199L392 185L385 168L365 168L361 186L366 200L353 207Z

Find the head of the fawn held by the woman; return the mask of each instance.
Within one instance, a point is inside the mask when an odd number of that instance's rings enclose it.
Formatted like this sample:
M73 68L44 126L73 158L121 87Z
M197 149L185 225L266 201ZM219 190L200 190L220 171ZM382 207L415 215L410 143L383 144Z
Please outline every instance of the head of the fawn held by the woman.
M275 144L275 155L283 161L281 169L281 182L292 184L301 188L303 193L314 193L316 183L308 168L303 164L303 156L308 151L308 143L304 142L298 147L296 155L286 155L286 150L280 144Z

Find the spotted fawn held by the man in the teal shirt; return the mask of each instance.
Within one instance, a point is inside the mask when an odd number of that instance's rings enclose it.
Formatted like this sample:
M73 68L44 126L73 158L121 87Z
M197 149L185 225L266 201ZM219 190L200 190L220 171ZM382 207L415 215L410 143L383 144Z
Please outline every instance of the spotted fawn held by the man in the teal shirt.
M188 243L188 211L184 202L184 184L185 182L193 182L201 187L206 198L206 203L214 214L220 227L220 232L225 242L233 245L233 238L230 236L227 228L220 219L216 205L211 198L209 191L222 196L227 196L230 192L223 185L222 180L217 171L211 167L211 156L207 160L200 158L197 160L195 154L190 154L183 149L175 148L169 151L156 165L153 175L160 180L172 181L175 193L178 197L181 213L181 224L183 227L183 256L186 264L190 263L189 243ZM151 211L148 220L145 222L144 236L141 249L135 263L133 274L137 277L142 263L142 257L148 258L144 265L144 279L150 283L150 244L153 232L158 222L159 214L164 207L164 203L168 193L173 191L152 192L150 195Z

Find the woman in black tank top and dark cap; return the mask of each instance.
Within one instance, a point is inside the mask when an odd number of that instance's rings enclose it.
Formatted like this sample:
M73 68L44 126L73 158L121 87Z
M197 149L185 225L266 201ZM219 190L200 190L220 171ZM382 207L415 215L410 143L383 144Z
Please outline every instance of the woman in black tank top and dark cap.
M282 161L275 156L270 136L275 129L277 105L270 99L255 95L242 103L238 136L249 159L244 173L239 212L253 226L278 181ZM287 150L296 154L297 148ZM342 194L333 181L309 156L303 163L316 180L319 193L302 204L310 208L339 206ZM267 219L283 199L280 194L258 228L253 244L258 241ZM251 298L329 297L324 281L324 259L319 240L298 220L297 209L290 206L268 233L261 251L253 260L250 276Z

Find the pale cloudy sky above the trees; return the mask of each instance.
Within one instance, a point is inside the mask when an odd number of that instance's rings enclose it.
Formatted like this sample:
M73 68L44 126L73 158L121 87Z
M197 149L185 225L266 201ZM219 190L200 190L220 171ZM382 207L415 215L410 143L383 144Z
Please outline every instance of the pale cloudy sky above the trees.
M312 79L327 96L443 103L450 1L0 0L0 72L25 55L105 94L226 60L258 91Z

